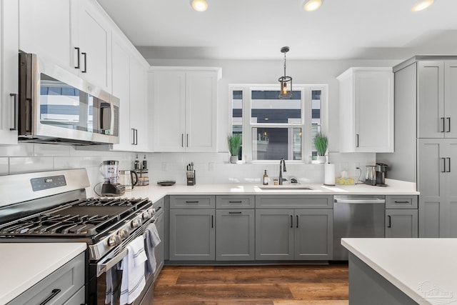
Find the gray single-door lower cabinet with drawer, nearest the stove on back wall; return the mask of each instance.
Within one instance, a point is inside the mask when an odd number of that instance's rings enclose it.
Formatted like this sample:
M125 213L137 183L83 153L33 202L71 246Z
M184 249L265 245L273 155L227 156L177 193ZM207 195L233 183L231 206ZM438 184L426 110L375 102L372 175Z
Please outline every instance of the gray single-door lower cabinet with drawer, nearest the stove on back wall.
M170 261L214 261L215 209L215 196L170 196Z

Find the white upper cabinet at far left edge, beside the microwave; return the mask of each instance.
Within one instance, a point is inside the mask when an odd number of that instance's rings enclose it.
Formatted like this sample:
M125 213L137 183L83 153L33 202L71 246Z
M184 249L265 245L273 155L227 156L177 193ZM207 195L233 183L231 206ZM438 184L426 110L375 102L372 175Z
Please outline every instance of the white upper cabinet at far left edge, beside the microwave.
M17 0L0 1L0 33L0 144L17 144Z

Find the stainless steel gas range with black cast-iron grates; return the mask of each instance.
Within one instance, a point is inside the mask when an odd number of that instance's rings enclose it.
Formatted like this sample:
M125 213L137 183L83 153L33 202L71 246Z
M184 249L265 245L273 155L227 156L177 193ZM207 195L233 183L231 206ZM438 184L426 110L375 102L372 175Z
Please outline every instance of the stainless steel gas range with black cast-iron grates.
M85 169L0 176L0 242L85 242L86 304L104 304L106 271L156 221L149 199L86 198ZM16 191L21 188L21 191ZM33 259L33 255L31 254ZM150 304L154 278L134 304ZM144 296L147 296L145 298ZM142 303L144 301L144 303Z

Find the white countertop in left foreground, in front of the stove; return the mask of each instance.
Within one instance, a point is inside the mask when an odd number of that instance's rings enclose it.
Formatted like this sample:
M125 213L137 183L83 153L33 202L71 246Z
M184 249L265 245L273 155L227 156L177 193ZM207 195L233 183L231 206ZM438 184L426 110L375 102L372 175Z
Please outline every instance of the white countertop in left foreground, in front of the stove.
M16 298L85 249L85 243L1 243L0 304Z

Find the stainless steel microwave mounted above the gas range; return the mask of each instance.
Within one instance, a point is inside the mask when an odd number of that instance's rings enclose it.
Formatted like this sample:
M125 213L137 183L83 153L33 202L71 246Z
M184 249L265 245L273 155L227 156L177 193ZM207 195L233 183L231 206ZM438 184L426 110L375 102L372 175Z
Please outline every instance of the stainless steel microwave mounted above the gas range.
M19 53L19 141L119 143L119 99L36 54Z

